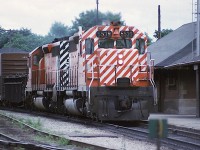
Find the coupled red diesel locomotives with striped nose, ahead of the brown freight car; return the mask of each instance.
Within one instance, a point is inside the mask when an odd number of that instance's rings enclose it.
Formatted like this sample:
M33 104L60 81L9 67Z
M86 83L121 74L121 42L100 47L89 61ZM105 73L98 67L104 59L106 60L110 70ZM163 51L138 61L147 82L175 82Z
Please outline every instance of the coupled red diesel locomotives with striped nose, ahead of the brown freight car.
M26 103L99 120L143 120L156 102L147 37L112 22L29 54Z

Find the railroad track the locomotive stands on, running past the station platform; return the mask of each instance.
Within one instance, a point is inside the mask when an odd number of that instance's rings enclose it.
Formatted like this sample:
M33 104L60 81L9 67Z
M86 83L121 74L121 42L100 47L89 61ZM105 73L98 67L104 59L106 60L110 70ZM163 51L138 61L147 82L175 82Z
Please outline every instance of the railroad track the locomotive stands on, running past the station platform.
M48 118L59 119L68 122L71 121L79 124L85 124L88 126L99 127L101 130L110 131L112 133L119 134L129 139L142 140L156 144L156 140L154 141L148 138L148 122L142 122L142 125L134 127L130 127L130 125L126 127L124 125L122 126L119 124L94 122L89 119L73 118L54 114L46 115L46 113L38 112L35 113L36 115L42 115ZM200 131L169 126L168 137L165 139L161 139L160 142L162 145L169 147L170 149L200 149Z

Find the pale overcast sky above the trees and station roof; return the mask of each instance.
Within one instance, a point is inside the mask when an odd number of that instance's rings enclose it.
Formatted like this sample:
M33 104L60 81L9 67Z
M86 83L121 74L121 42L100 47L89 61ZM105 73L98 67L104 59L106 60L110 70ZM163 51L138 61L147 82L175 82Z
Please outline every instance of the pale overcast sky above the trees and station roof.
M195 1L195 0L194 0ZM46 35L53 22L70 26L86 10L96 9L96 0L0 0L0 26L31 29ZM192 0L99 0L99 11L121 13L127 25L136 26L151 37L157 30L158 5L161 28L176 29L192 22Z

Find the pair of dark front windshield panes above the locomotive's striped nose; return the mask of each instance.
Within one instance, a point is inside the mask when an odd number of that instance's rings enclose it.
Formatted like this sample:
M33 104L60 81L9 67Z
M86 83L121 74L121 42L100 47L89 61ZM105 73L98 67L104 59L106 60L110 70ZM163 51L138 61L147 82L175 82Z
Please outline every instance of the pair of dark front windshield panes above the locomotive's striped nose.
M117 49L131 48L132 41L130 39L117 39L116 41L113 39L99 39L98 42L99 48L114 48L114 45Z

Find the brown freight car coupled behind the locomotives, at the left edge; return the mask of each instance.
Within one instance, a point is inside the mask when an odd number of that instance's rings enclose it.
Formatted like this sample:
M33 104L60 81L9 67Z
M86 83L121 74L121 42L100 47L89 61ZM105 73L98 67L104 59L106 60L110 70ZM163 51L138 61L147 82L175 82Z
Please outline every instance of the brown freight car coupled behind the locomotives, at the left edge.
M0 102L23 106L27 84L28 52L14 49L0 49Z

